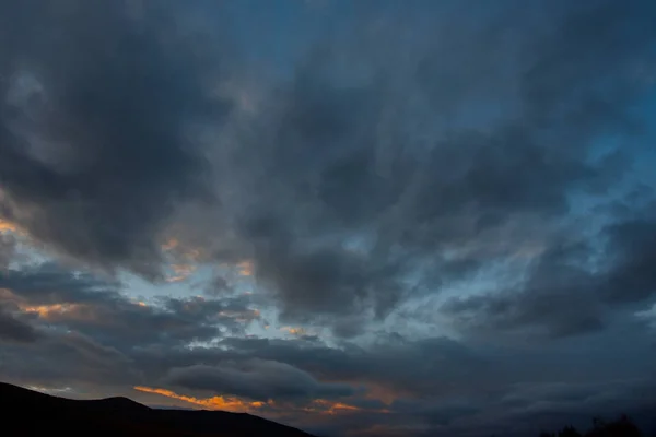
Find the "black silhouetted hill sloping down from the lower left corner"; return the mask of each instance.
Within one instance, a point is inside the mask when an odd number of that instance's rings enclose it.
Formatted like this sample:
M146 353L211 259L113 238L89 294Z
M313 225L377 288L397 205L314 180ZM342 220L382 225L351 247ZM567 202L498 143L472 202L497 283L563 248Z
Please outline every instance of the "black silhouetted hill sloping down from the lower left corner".
M127 398L78 401L0 382L0 436L313 437L250 414L156 410Z

